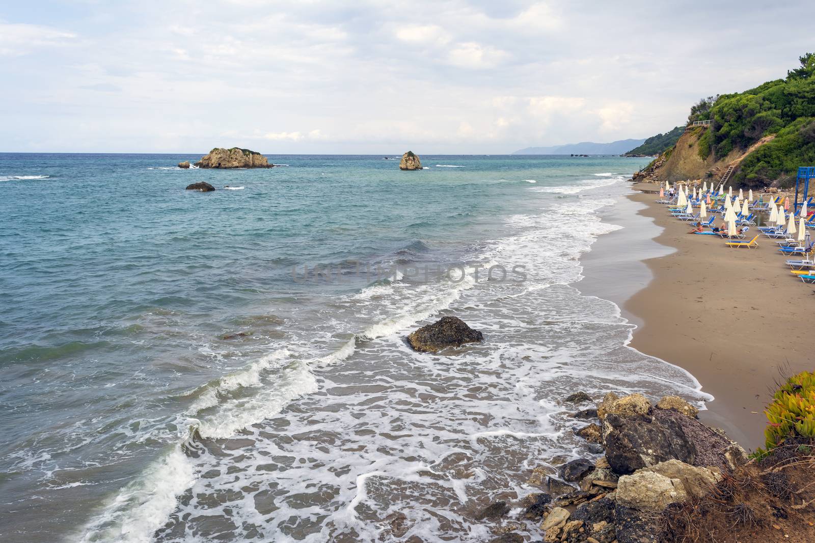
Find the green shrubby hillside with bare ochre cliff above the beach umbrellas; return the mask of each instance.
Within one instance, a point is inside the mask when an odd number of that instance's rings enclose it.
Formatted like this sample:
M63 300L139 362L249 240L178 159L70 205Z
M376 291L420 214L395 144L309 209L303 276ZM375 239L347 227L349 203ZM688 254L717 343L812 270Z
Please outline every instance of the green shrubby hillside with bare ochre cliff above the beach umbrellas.
M799 166L815 165L815 54L799 60L800 68L784 79L694 104L689 123L713 122L708 128L694 128L693 134L684 134L663 151L650 174L676 177L678 172L660 173L659 168L681 161L693 166L682 169L683 176L717 177L728 164L737 164L734 185L790 186Z

